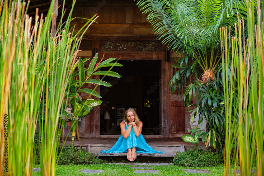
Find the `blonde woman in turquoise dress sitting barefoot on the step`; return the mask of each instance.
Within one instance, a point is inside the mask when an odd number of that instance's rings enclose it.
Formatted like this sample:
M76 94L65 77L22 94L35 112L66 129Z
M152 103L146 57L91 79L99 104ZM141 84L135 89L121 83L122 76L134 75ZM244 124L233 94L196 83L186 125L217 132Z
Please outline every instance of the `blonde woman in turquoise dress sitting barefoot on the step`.
M153 150L147 144L141 134L142 122L132 108L126 110L124 121L120 122L120 128L122 135L119 137L115 145L110 150L103 150L101 153L127 152L128 155L126 158L130 161L136 159L136 153L163 153L162 151Z

